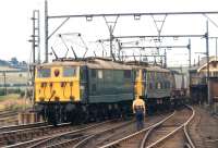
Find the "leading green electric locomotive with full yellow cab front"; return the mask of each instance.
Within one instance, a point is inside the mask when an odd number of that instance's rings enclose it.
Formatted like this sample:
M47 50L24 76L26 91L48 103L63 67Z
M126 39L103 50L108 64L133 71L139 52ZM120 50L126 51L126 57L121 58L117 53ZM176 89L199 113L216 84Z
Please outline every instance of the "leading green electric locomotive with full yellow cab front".
M36 67L35 103L44 118L80 123L131 112L132 66L107 59L53 61Z

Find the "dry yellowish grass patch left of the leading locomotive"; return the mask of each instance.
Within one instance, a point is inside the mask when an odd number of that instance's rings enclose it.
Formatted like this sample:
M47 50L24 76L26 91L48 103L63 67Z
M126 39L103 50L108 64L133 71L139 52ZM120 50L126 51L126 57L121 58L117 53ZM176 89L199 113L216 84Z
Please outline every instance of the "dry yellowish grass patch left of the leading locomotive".
M0 110L24 110L31 106L32 103L28 99L21 98L16 94L0 96Z

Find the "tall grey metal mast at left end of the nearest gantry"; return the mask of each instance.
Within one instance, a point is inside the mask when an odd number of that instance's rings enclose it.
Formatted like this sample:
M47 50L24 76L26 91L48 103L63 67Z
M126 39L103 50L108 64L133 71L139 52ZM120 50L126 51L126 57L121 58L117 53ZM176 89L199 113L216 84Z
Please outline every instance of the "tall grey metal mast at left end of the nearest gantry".
M45 62L48 62L48 2L45 1Z

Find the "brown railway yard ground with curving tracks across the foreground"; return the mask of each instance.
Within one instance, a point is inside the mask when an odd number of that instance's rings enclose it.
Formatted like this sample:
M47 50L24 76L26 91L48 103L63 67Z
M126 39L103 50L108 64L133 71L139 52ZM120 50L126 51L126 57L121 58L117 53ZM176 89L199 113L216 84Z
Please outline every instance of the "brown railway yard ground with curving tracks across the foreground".
M2 118L14 116L5 112ZM82 125L48 123L0 127L0 147L7 148L217 148L218 118L198 106L145 118L136 131L135 120L106 120Z

